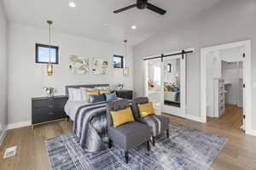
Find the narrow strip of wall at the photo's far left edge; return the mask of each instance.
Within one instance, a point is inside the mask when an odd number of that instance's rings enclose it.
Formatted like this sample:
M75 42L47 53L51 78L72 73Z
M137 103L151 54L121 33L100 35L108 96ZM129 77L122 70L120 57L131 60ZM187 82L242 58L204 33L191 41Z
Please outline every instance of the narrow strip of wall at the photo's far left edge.
M0 137L7 124L7 20L0 1Z

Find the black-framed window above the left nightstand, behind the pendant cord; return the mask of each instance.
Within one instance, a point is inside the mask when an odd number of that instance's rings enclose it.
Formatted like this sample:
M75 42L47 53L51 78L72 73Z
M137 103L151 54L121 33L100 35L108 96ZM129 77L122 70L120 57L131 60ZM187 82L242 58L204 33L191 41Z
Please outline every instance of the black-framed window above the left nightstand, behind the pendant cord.
M36 43L36 63L49 62L49 45ZM59 64L59 47L50 46L50 62Z

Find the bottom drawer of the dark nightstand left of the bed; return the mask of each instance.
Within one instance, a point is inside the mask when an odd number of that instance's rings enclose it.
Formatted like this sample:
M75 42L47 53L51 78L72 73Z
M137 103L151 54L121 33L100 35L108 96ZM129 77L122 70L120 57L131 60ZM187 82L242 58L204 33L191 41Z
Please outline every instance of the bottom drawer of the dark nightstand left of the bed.
M66 117L66 114L64 111L58 109L34 109L33 110L33 116L32 116L32 124L36 124L39 122L49 122L54 121L57 119L62 119Z

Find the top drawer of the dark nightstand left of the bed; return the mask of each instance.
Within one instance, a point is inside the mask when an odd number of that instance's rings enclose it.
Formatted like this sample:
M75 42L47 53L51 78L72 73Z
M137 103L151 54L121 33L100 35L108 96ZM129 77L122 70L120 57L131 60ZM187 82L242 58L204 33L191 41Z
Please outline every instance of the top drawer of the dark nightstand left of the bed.
M35 100L32 101L32 107L34 109L38 108L54 108L56 106L63 106L67 102L66 99L45 99L45 100Z

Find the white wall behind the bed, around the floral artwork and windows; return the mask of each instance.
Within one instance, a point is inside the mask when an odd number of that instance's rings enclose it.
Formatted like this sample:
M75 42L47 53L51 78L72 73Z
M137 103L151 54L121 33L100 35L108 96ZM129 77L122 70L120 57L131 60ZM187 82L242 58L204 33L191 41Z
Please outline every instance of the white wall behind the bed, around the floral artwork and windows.
M127 55L130 77L123 77L123 71L112 66L107 76L71 75L70 55L109 59L112 64L113 54L124 54L124 44L99 42L57 31L52 32L52 42L60 47L60 64L54 65L54 76L46 76L46 65L35 64L35 43L49 42L48 35L46 28L9 24L9 123L31 121L31 98L44 96L43 86L56 88L57 94L65 94L66 85L92 83L109 83L114 88L117 83L124 82L125 88L133 89L132 48Z

